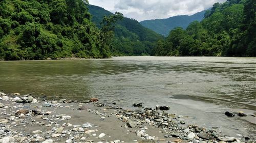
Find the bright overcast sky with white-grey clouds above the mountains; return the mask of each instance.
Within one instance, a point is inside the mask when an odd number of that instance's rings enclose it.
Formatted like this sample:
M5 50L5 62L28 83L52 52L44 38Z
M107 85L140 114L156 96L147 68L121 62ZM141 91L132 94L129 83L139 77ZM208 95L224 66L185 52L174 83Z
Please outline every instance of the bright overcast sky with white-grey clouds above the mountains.
M121 12L125 17L138 21L162 19L176 15L192 15L226 0L89 0L113 13Z

